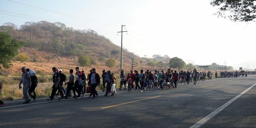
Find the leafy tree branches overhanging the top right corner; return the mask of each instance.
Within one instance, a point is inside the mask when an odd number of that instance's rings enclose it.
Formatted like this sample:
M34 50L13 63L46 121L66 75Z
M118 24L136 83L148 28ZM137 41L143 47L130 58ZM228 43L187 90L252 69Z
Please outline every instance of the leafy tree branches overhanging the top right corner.
M234 22L248 22L256 18L256 0L213 0L212 6L220 6L215 15Z

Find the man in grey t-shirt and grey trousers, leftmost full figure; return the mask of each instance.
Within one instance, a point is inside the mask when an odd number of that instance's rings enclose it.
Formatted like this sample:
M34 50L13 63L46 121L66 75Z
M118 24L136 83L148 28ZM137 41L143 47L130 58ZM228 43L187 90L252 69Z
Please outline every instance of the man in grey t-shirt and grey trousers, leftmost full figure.
M30 103L31 99L28 93L29 88L31 87L31 77L29 72L26 71L26 67L22 67L22 79L19 82L19 88L22 88L20 85L23 84L23 96L25 102L23 104Z

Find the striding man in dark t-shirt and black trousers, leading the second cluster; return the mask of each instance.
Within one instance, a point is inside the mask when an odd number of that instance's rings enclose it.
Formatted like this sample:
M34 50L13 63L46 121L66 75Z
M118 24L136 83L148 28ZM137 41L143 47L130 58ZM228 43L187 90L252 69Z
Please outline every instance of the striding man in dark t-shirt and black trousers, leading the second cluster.
M54 95L56 94L56 91L58 90L59 93L60 93L60 99L59 100L63 100L64 99L64 96L63 96L63 92L60 88L60 75L59 75L59 72L57 71L57 68L56 67L53 67L53 90L52 90L52 94L50 96L49 99L47 99L48 101L53 101L54 99Z

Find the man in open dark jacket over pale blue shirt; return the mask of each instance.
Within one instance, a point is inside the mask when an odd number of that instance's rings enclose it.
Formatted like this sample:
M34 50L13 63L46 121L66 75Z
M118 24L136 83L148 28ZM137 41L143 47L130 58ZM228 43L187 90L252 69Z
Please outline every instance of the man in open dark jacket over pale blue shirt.
M93 99L98 98L98 93L96 87L100 85L100 75L96 73L96 69L91 69L90 79L88 85L91 87L91 93L93 94Z

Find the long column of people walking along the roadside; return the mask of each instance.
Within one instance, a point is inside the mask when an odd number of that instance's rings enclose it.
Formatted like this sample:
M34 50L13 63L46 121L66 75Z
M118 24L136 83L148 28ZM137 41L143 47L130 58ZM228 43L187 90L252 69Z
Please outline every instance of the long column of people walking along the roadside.
M18 84L18 87L21 89L21 84L23 84L23 95L25 102L23 104L30 103L31 98L33 100L36 99L35 88L38 84L37 76L35 75L35 71L30 69L26 69L26 67L22 67L22 79ZM115 83L117 83L117 79L114 76L114 73L111 73L110 70L102 71L101 76L96 72L96 69L91 69L88 75L85 74L84 71L80 71L79 67L75 68L75 72L73 69L69 70L69 79L67 81L67 76L63 74L62 69L57 69L56 67L52 68L53 71L53 86L51 96L47 99L48 101L53 101L54 97L59 96L58 100L63 100L72 97L71 91L73 92L73 98L80 99L81 96L84 97L85 94L89 94L88 98L98 98L98 92L96 90L97 86L100 86L101 79L103 85L103 92L105 92L104 96L108 97L114 95L115 92ZM146 70L134 70L127 73L127 75L122 70L120 72L120 85L119 90L126 90L128 92L140 90L141 92L146 91L146 89L151 88L159 88L165 89L168 87L176 88L178 83L190 84L197 82L204 82L205 80L212 80L218 78L229 78L229 77L238 77L247 75L254 75L256 72L240 72L240 71L222 71L216 72L204 72L197 71L194 69L193 71L179 71L168 69L167 72L163 70L158 71L149 71ZM213 78L214 77L214 78ZM65 88L64 86L67 85ZM87 86L88 85L88 86ZM135 87L134 87L135 86ZM0 89L2 88L2 84L0 83ZM113 89L114 88L114 89ZM4 106L4 103L0 100L0 106Z

